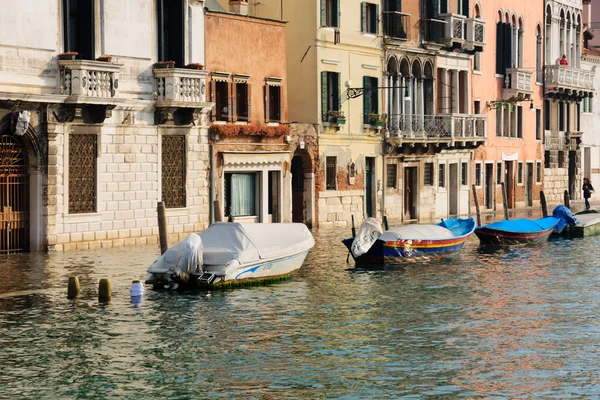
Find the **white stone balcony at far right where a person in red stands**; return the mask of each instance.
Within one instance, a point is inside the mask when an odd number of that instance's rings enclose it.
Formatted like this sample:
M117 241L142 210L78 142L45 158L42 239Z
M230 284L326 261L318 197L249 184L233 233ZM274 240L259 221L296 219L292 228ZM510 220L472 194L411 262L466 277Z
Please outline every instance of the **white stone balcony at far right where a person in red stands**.
M547 65L544 67L545 95L581 100L594 92L595 71Z

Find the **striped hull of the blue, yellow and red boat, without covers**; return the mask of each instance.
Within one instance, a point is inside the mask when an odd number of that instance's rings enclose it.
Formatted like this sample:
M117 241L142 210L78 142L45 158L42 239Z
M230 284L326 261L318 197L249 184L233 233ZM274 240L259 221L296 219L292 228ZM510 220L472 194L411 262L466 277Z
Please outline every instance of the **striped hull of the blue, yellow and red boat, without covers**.
M413 261L447 258L458 253L463 248L469 236L470 234L444 240L377 240L368 252L353 258L357 264L386 265L401 265ZM348 250L350 250L353 240L353 238L343 240Z

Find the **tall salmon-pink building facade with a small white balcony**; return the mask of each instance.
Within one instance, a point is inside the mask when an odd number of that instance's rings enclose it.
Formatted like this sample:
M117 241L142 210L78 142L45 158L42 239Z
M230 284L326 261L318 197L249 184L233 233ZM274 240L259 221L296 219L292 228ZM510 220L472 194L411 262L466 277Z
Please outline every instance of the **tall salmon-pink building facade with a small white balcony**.
M484 210L531 207L543 187L543 0L472 3L489 48L472 58L476 113L487 115L487 143L473 151L472 183Z

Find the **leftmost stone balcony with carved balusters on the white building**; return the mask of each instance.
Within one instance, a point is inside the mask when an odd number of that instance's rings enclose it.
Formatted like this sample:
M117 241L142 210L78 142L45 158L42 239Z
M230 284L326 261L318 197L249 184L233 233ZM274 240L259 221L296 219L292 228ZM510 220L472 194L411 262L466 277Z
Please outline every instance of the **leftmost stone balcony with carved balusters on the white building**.
M92 60L58 60L58 93L67 104L112 105L119 102L120 64Z

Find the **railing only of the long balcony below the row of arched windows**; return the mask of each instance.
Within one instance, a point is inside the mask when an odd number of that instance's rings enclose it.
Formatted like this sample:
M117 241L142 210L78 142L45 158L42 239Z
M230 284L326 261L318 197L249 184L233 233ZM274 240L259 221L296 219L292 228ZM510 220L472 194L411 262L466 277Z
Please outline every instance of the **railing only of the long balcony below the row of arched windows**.
M390 136L404 139L481 139L486 137L485 115L391 115Z

